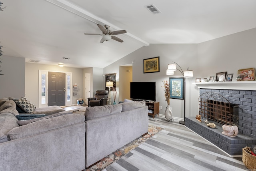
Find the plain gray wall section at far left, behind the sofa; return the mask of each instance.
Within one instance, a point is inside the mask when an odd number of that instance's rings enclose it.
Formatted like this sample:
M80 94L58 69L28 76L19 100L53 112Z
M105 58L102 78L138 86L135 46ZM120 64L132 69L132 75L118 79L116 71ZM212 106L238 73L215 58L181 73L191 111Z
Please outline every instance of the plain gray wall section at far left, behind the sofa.
M25 58L0 56L0 98L25 96Z

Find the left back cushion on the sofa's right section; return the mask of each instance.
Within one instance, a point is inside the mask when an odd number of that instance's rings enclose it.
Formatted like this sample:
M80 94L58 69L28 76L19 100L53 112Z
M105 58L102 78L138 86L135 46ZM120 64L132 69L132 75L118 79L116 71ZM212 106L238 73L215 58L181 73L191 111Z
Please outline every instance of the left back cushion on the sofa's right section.
M91 120L98 117L112 115L114 113L120 113L122 111L122 105L104 105L104 106L89 106L86 107L85 120Z

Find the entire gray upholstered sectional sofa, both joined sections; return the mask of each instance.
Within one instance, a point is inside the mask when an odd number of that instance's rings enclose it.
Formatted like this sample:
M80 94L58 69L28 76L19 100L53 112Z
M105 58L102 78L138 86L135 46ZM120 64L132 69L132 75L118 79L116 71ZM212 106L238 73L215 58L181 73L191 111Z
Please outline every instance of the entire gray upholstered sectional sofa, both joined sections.
M16 103L0 99L0 170L81 171L148 132L145 101L60 112L19 126ZM19 123L19 124L18 124Z

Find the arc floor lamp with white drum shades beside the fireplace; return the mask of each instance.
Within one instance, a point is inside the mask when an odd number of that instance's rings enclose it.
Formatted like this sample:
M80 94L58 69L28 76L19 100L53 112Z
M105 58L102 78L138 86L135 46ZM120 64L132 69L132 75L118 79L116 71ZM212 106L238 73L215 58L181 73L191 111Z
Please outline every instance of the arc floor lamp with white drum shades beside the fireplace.
M179 69L177 69L177 65ZM179 64L176 62L172 62L172 64L168 64L168 69L166 70L166 75L174 75L174 71L178 70L182 76L184 77L184 121L179 121L180 124L185 125L185 116L186 116L186 78L193 77L192 70L182 71ZM171 94L172 92L170 92Z

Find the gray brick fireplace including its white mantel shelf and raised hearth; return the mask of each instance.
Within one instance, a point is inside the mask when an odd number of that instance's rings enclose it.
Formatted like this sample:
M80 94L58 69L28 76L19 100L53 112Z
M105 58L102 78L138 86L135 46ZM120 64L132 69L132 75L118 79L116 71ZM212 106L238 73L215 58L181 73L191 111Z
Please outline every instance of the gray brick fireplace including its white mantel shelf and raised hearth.
M193 83L194 84L194 83ZM238 118L237 126L239 128L239 133L236 137L228 137L222 134L222 125L236 125L234 123L219 123L213 120L209 120L216 124L216 128L207 127L203 122L199 122L195 117L186 117L185 125L190 128L192 131L196 132L198 135L204 137L230 156L242 155L242 148L245 146L256 145L256 81L247 81L246 82L216 82L216 83L195 83L200 88L200 95L203 93L218 93L222 95L224 99L228 100L228 103L238 107ZM200 96L199 95L199 96ZM207 102L207 101L206 101ZM210 102L210 101L208 101ZM216 103L216 102L214 102ZM222 102L220 102L222 103ZM209 106L209 104L207 104ZM206 105L206 106L207 106ZM210 108L210 107L205 107ZM200 111L200 99L199 99L199 111ZM205 112L206 113L206 112ZM208 112L209 113L209 112ZM197 113L198 114L198 113ZM195 116L197 115L195 114ZM228 118L221 116L223 118ZM236 116L237 117L237 116ZM228 120L234 119L230 117Z

